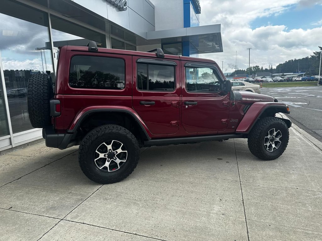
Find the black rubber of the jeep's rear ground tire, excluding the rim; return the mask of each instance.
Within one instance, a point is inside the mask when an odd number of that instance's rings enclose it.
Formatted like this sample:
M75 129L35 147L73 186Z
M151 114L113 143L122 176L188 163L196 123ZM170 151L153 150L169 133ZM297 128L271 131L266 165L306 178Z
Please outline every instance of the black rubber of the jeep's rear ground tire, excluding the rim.
M124 144L128 154L124 165L114 172L100 170L94 162L96 149L109 140L117 140ZM91 130L81 141L79 147L79 165L83 173L92 181L101 184L117 183L127 178L139 160L139 144L133 134L118 125L103 125Z

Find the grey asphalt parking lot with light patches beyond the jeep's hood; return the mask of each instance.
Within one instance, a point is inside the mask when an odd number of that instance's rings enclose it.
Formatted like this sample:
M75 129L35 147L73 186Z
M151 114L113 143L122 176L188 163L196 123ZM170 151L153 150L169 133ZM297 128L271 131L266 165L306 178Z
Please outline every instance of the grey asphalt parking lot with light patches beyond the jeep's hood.
M262 88L261 93L289 105L289 118L322 141L322 86Z

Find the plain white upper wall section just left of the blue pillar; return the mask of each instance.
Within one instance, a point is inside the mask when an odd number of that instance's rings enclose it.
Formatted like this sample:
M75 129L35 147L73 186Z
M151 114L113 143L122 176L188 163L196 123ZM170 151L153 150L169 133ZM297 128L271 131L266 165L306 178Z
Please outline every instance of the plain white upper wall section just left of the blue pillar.
M151 0L155 7L155 28L183 28L183 0Z

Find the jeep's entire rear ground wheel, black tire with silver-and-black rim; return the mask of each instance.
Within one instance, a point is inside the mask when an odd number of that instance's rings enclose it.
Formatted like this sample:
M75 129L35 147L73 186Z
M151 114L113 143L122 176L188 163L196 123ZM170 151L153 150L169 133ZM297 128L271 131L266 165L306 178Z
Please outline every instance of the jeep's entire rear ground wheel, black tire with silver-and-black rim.
M96 183L116 183L127 178L138 159L137 139L128 129L118 125L91 130L79 147L81 170Z

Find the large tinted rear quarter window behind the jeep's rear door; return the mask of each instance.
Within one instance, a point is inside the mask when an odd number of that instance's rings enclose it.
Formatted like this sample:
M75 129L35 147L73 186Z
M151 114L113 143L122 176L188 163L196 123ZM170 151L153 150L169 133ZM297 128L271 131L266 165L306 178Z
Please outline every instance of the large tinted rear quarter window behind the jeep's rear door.
M125 62L120 58L74 56L71 58L69 85L84 89L124 89Z

